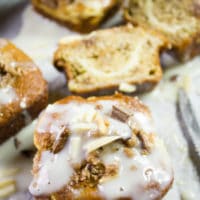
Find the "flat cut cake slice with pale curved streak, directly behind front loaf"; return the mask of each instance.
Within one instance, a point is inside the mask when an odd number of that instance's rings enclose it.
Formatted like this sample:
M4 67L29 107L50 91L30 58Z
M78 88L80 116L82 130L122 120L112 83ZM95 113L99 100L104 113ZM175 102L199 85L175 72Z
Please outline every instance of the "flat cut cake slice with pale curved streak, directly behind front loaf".
M60 41L54 64L64 70L77 94L110 94L150 90L162 77L159 52L164 37L131 24Z

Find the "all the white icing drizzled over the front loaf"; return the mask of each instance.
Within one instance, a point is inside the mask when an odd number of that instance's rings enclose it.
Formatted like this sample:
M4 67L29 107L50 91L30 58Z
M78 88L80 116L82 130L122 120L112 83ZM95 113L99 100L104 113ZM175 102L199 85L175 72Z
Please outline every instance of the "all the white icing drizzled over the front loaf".
M68 104L54 104L47 107L37 126L37 133L49 132L58 139L63 125L66 125L70 129L70 136L60 152L56 154L50 151L41 152L39 172L29 188L33 195L51 194L68 184L74 172L72 164L80 163L89 152L95 150L95 142L96 149L104 147L100 158L105 165L113 163L119 165L118 176L98 185L99 191L106 199L132 197L149 200L153 199L157 192L155 189L144 192L141 188L149 180L158 182L161 189L169 184L172 177L170 162L159 140L156 140L152 153L147 156L141 155L140 150L136 148L132 149L133 158L125 155L123 145L118 139L131 137L132 130L127 123L111 118L112 107L117 103L111 100L95 103L71 101ZM151 119L147 113L134 112L133 116L141 129L152 133ZM101 119L108 123L106 135L94 137L94 133L101 131ZM107 142L108 139L110 142ZM110 144L107 145L108 143ZM111 151L111 143L114 147L118 146L119 150ZM134 170L132 166L135 167ZM145 175L147 169L151 169L152 174Z

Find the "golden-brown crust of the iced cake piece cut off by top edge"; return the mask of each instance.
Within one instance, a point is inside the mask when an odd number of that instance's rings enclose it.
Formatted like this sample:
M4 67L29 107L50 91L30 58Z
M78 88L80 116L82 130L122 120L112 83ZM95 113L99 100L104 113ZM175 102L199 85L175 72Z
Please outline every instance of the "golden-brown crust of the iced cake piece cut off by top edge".
M76 2L67 2L63 0L57 0L58 7L48 7L45 3L41 3L41 0L32 0L32 4L36 11L42 15L56 20L61 25L68 26L70 29L88 33L96 29L106 18L116 12L119 8L118 0L110 0L109 4L102 7L101 13L90 14L87 16L87 12L91 12L87 5ZM72 9L68 9L71 5L75 5ZM58 12L62 13L60 16ZM78 14L74 14L78 13ZM71 17L70 17L71 16Z

